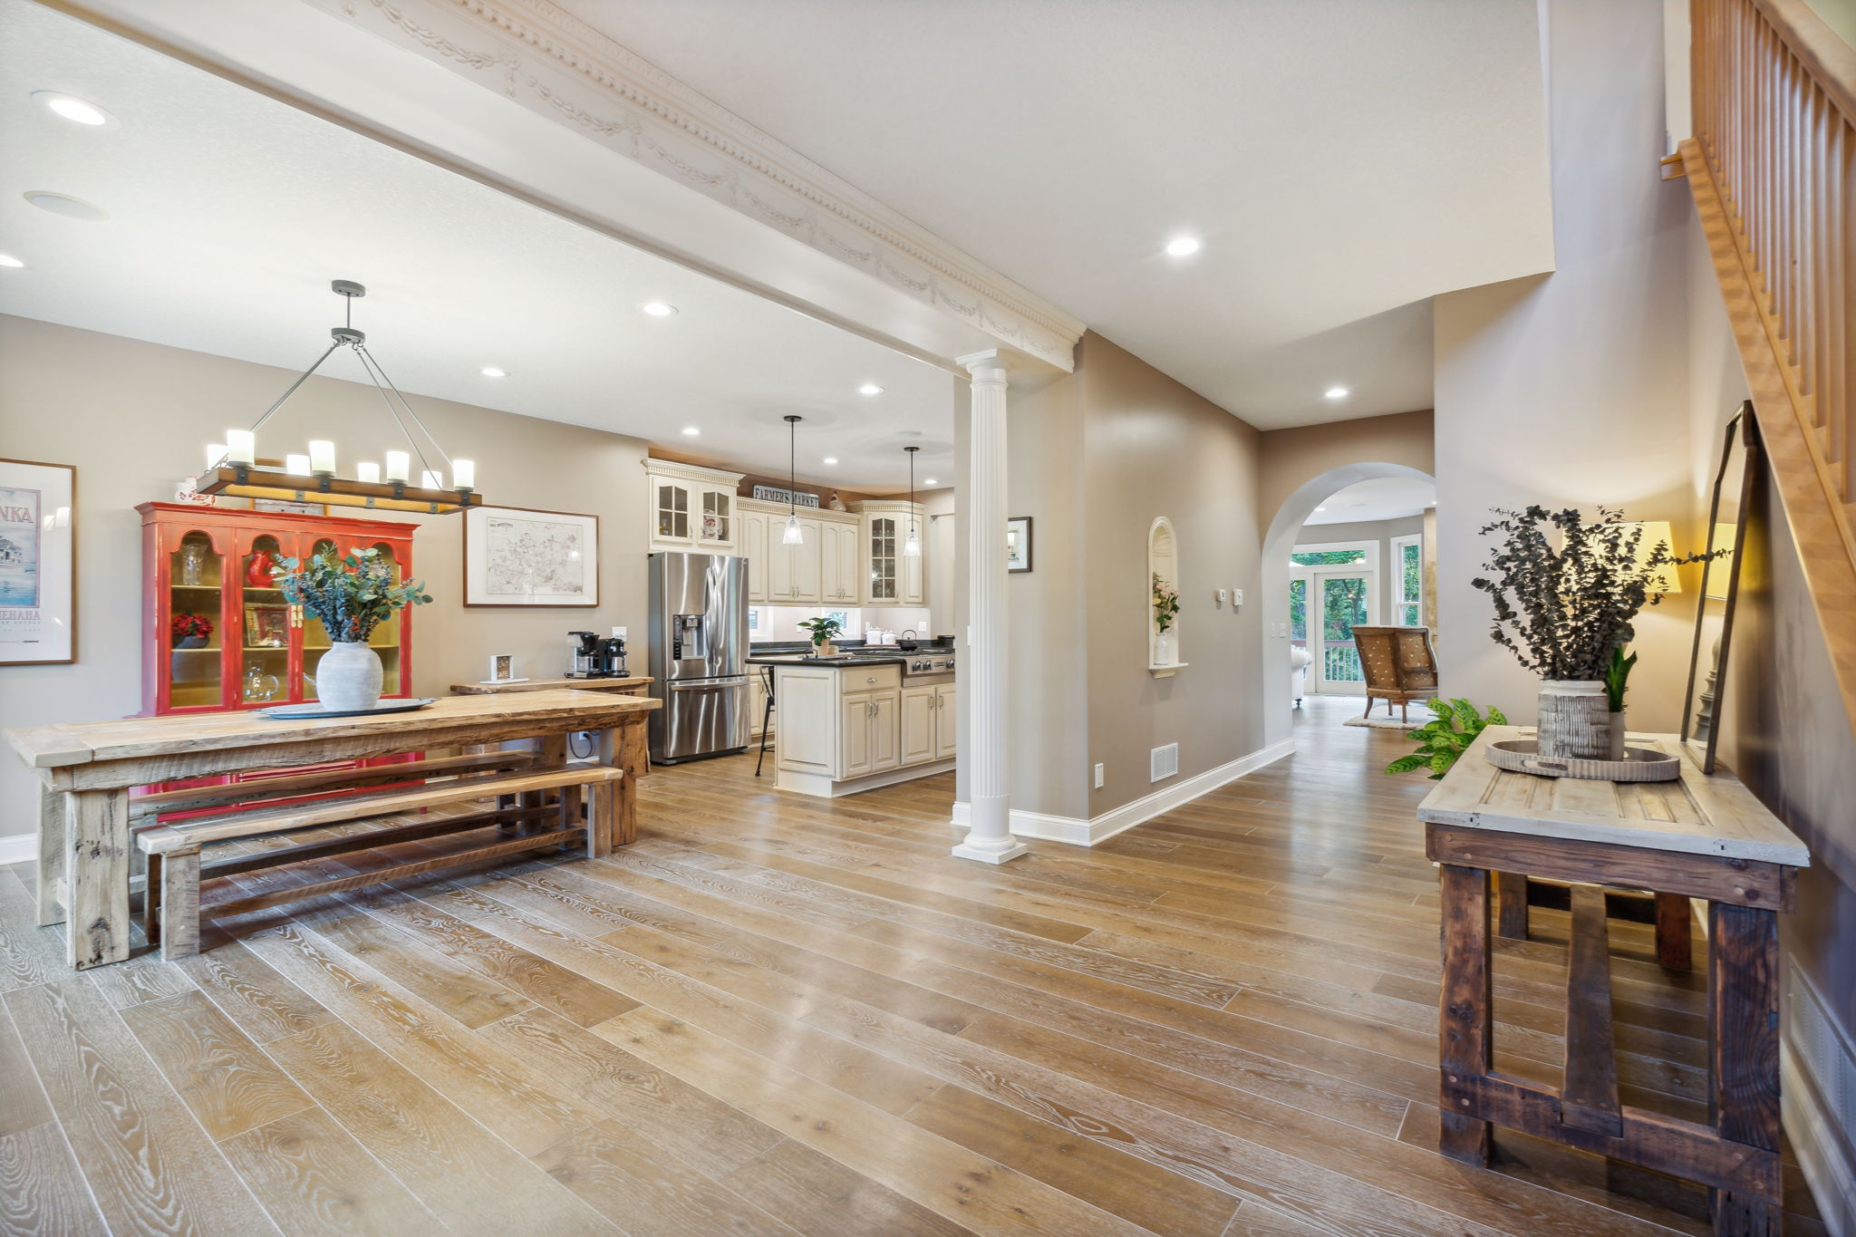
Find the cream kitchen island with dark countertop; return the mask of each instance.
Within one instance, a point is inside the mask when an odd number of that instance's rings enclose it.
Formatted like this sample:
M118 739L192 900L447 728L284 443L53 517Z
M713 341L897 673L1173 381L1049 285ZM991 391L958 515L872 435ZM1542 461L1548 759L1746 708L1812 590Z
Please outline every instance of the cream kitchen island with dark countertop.
M952 649L757 653L774 675L778 786L837 797L954 768Z

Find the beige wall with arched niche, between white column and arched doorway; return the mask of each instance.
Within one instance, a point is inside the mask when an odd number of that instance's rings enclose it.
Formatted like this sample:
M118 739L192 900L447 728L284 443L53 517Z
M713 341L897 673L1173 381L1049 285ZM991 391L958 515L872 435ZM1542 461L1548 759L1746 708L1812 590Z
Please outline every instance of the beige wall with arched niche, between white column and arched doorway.
M1101 790L1086 792L1086 814L1102 816L1171 784L1149 783L1151 747L1179 744L1180 779L1262 747L1255 690L1262 434L1097 334L1078 345L1078 375L1086 764L1099 760L1106 773ZM1147 530L1158 516L1179 538L1177 649L1190 662L1171 679L1147 673ZM1218 606L1218 588L1245 590L1249 605ZM1067 668L1076 673L1076 658Z

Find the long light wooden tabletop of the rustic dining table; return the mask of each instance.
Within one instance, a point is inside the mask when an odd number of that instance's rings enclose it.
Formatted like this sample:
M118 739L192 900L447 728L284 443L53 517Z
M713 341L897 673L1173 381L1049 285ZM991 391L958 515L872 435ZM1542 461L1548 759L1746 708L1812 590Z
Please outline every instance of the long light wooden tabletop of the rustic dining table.
M258 712L169 714L119 721L74 721L6 731L13 749L33 768L130 760L180 751L219 751L273 744L314 742L354 734L406 734L496 721L559 721L585 718L586 729L603 729L624 714L650 712L659 703L642 695L611 692L525 692L520 695L447 695L412 712L354 718L277 720ZM408 747L416 747L410 742Z

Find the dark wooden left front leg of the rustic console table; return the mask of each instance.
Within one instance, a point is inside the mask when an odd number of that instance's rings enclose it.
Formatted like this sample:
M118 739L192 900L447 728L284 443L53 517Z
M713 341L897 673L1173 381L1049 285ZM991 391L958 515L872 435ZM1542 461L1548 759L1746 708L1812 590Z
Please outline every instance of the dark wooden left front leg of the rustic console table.
M1444 988L1438 1003L1442 1089L1440 1150L1472 1165L1489 1163L1489 1122L1464 1116L1451 1085L1483 1078L1494 1063L1494 983L1489 964L1489 872L1440 864ZM1461 1092L1459 1092L1461 1094Z

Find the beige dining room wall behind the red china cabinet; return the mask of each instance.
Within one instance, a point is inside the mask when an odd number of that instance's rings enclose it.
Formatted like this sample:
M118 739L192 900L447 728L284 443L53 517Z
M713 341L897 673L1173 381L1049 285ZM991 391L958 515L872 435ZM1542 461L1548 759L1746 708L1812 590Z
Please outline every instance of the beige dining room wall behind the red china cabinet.
M78 467L78 662L0 668L0 727L119 718L141 708L141 517L171 499L226 427L249 425L295 375L32 319L0 317L0 454ZM598 608L473 608L462 601L462 521L419 519L412 575L436 599L414 618L414 690L445 694L484 677L492 653L522 673L564 668L572 629L631 629L644 657L644 443L470 404L412 397L453 454L475 458L484 495L505 506L599 516ZM312 378L260 453L334 438L343 458L392 443L371 386ZM32 833L35 790L0 759L0 836Z

